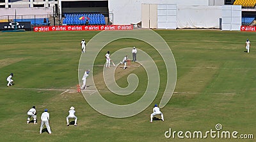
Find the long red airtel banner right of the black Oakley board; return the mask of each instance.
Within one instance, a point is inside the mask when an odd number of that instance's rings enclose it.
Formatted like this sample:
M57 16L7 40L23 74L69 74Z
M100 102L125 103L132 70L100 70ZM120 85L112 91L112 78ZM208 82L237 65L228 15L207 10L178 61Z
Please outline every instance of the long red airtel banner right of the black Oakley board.
M104 30L132 30L132 25L109 25L109 26L40 26L34 31L104 31Z

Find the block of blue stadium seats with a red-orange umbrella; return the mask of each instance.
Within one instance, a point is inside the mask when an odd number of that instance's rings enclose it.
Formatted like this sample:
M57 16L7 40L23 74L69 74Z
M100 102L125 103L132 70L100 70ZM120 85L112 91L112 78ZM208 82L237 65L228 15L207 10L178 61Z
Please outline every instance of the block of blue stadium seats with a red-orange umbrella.
M88 20L90 25L105 25L102 13L64 13L63 25L85 25Z

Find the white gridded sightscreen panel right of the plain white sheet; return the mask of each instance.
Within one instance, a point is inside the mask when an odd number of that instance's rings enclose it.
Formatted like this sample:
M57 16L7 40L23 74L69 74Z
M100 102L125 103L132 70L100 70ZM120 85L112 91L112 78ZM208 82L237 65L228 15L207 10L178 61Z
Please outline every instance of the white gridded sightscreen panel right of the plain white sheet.
M225 31L240 30L242 23L242 7L240 5L222 6L221 29Z

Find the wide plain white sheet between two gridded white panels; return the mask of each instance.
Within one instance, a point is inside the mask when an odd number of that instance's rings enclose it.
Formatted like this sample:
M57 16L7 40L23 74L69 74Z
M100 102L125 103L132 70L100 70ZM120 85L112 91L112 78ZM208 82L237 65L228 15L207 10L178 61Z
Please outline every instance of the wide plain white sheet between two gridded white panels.
M177 6L177 28L220 28L221 6Z

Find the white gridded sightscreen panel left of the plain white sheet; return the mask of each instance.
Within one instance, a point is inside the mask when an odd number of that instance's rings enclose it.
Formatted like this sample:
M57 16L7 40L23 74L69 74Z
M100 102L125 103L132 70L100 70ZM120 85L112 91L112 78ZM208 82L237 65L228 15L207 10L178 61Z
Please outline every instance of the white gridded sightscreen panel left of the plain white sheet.
M157 28L177 28L177 6L176 4L157 4Z

